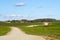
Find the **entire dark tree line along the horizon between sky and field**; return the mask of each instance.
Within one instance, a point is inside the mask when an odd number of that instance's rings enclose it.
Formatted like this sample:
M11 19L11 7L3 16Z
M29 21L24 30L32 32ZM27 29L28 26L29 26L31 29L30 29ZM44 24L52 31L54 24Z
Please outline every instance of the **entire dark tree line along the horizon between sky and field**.
M43 19L34 19L34 20L8 20L7 22L60 22L60 20L52 19L52 18L43 18Z

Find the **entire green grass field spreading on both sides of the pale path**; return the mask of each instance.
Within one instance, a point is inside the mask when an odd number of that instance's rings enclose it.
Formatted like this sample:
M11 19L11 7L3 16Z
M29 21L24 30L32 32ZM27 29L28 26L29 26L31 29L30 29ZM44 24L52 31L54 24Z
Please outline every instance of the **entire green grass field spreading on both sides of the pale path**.
M37 27L29 28L29 25L38 25ZM27 34L32 35L49 35L49 36L60 36L60 22L50 22L48 27L45 27L43 23L29 22L29 23L0 23L0 36L5 35L10 31L10 26L19 27Z

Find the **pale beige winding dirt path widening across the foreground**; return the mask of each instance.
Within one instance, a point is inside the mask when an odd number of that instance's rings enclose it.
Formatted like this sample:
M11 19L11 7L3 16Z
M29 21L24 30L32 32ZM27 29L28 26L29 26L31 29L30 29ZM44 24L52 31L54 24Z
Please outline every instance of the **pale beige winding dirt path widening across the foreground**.
M11 31L4 36L0 36L0 40L45 40L42 36L25 34L17 27L11 27Z

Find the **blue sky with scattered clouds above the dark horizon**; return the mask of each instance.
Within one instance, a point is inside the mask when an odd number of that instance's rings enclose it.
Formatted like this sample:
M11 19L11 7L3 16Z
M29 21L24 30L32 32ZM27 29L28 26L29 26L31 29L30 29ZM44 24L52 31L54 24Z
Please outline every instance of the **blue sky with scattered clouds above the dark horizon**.
M60 0L0 0L0 20L60 19Z

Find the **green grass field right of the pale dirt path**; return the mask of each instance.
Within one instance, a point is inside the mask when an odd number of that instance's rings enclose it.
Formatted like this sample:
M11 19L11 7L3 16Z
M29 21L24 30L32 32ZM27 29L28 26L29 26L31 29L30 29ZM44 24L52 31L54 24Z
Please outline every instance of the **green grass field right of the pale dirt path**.
M37 27L29 28L25 26L19 26L20 29L22 29L25 33L27 34L32 34L32 35L56 35L60 36L60 22L53 22L50 23L48 27L44 27L42 23L27 23L27 25L39 25Z

